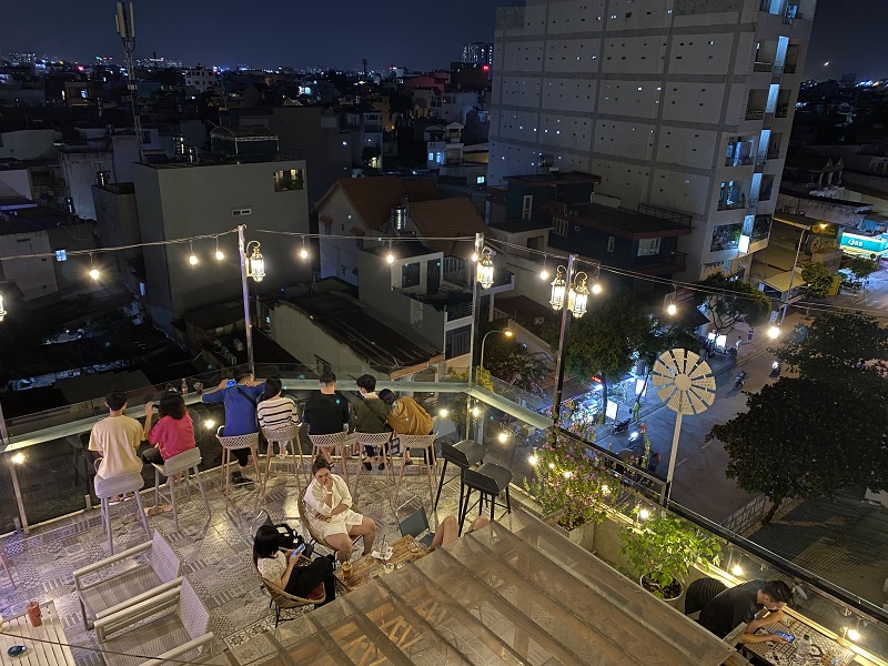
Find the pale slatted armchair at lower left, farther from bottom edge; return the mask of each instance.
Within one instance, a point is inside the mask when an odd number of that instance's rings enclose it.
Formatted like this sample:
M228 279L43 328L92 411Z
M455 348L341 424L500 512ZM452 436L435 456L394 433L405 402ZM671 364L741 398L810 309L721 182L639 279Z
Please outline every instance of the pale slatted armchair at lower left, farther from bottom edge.
M123 561L143 554L145 564L119 571ZM160 532L154 532L150 542L75 571L74 587L83 626L91 629L93 619L178 587L182 581L178 577L181 569L179 555Z

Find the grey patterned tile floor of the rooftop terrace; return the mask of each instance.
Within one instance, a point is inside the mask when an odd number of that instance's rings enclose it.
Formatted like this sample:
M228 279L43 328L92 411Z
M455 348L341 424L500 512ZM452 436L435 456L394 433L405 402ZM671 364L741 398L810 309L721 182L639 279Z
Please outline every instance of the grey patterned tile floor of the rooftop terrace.
M355 462L352 462L352 467L354 465ZM370 477L362 477L355 502L362 513L376 521L380 536L400 536L393 506L414 493L423 498L434 528L436 519L428 502L426 477L411 476L421 468L408 468L408 477L398 497L393 496L394 487L386 486L382 473L374 470ZM447 477L456 478L456 470L448 468ZM262 633L269 626L264 622L268 618L271 618L271 626L274 625L269 597L260 588L251 564L251 526L263 505L259 493L239 490L226 512L224 497L218 487L219 472L206 472L202 478L212 511L210 516L195 488L191 501L180 504L180 531L175 531L171 513L150 517L149 526L152 531L160 531L182 558L183 574L210 610L210 630L216 638L214 652L220 654ZM178 496L181 498L183 495L180 491ZM292 467L275 460L264 503L275 523L287 522L294 527L299 526L299 495ZM445 484L437 515L455 515L457 497L458 480ZM153 502L153 495L150 500L145 493L143 502L149 505ZM115 552L145 541L144 531L130 504L127 502L112 507ZM99 512L63 518L33 529L28 536L8 537L2 545L16 585L10 584L0 571L0 613L22 613L29 599L53 599L68 640L74 646L79 666L102 666L103 660L95 649L98 643L94 633L83 628L73 583L75 569L109 555Z

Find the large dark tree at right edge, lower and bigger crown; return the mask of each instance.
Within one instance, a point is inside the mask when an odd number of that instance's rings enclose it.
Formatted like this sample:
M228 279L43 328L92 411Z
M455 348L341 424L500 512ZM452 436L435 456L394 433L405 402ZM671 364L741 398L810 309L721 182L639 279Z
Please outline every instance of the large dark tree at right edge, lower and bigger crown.
M715 425L730 456L726 476L771 502L834 497L842 487L888 483L888 391L836 391L827 382L781 377L747 400L749 411Z

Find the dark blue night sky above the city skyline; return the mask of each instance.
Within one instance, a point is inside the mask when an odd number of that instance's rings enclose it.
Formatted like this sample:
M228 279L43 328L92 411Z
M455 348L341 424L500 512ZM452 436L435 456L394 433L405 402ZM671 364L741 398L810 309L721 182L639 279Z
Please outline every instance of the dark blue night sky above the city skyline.
M36 51L88 61L122 60L111 0L3 2L0 51ZM462 44L493 41L498 4L518 0L143 0L135 1L137 57L185 65L335 65L372 69L448 67ZM888 0L820 0L806 74L888 77L882 48ZM305 9L312 7L311 10ZM211 9L212 8L212 9ZM824 67L825 62L828 67Z

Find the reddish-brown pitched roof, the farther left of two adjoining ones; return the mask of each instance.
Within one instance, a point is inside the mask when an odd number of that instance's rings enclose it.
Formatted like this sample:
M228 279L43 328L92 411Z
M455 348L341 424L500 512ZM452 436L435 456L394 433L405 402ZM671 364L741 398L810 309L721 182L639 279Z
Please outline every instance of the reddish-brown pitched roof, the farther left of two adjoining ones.
M404 196L411 202L440 199L441 192L431 179L402 180L395 175L341 178L331 191L342 188L355 212L371 229L382 229L392 216L392 209ZM320 205L320 204L319 204Z

